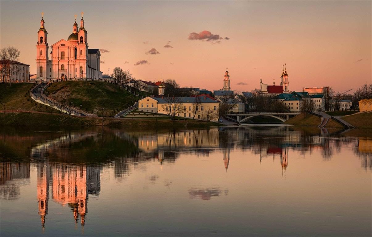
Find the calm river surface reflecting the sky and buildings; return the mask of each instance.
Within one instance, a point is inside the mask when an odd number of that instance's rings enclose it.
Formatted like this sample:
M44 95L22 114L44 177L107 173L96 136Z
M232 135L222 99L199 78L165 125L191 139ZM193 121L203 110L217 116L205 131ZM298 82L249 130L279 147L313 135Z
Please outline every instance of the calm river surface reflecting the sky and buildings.
M368 137L0 128L0 234L371 236Z

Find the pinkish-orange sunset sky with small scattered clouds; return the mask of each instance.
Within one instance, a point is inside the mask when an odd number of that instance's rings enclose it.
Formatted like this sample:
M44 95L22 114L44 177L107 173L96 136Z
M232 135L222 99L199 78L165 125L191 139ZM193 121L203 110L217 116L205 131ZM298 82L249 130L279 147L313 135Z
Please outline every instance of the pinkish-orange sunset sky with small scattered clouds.
M231 89L251 91L260 77L278 85L286 64L291 91L344 92L372 83L371 9L372 1L1 0L0 46L18 48L35 73L40 13L50 47L83 11L104 74L121 67L141 80L218 90L228 68Z

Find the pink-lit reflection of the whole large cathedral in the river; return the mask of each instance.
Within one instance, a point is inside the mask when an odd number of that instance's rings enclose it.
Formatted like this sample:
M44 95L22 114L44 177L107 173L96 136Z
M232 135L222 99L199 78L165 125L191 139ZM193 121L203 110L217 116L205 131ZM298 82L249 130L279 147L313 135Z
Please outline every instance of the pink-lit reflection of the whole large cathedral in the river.
M62 206L67 204L73 211L75 223L80 216L84 226L88 194L100 192L99 167L50 165L48 162L38 165L38 204L43 229L48 214L49 184L52 184L52 199Z

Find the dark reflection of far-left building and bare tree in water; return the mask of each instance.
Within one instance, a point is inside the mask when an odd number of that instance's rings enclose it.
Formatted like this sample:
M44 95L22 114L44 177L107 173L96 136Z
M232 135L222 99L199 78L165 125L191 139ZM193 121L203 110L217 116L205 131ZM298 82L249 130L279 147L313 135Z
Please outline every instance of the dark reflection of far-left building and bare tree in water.
M27 182L19 182L19 180ZM30 163L0 162L0 198L16 199L20 193L20 185L30 179Z

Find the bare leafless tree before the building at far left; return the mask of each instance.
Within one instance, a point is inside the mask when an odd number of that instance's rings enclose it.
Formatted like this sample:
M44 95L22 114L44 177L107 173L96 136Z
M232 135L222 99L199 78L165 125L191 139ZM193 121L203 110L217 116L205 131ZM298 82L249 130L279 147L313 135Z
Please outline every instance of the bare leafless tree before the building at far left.
M13 73L18 73L18 66L14 64L19 60L20 52L17 48L12 46L4 47L0 50L0 60L1 60L1 77L3 82L6 81L6 77L9 77L10 86L12 86L12 75Z

